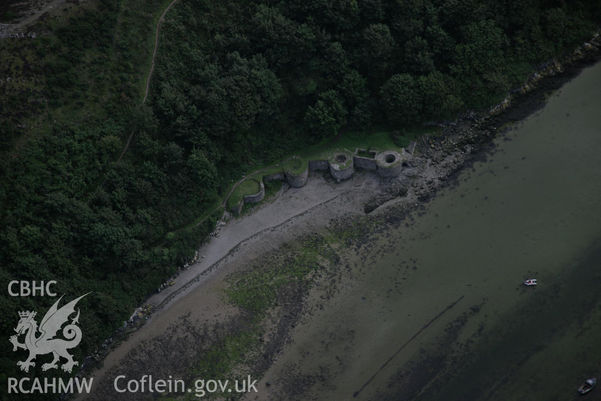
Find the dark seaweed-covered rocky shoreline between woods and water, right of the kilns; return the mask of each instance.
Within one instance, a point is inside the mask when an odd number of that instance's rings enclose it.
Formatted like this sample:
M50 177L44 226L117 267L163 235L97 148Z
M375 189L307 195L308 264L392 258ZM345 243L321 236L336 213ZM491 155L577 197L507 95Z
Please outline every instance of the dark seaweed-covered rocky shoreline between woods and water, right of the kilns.
M560 61L552 60L532 74L520 87L498 105L480 112L469 112L456 121L437 124L443 127L439 136L422 136L417 150L409 161L410 168L400 176L386 180L383 194L376 194L364 204L365 213L380 206L395 203L427 201L447 181L472 162L486 156L494 145L491 139L513 130L514 121L523 120L545 106L546 97L570 81L585 67L601 60L601 36L599 32Z

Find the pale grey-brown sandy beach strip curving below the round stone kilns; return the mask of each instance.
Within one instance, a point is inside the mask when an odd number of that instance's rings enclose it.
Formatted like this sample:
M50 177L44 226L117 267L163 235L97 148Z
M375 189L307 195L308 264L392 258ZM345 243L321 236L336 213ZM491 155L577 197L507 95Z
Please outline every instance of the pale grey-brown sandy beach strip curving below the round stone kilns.
M105 376L113 377L111 372L120 372L128 361L139 366L133 355L140 355L140 352L146 354L152 350L147 356L156 356L160 352L164 355L160 359L177 360L182 366L187 365L185 354L192 357L191 363L198 350L188 349L190 344L184 341L183 355L177 355L174 350L182 345L179 337L198 332L206 341L204 335L212 331L215 338L219 338L229 331L231 323L225 322L240 318L237 308L222 304L222 294L217 290L222 287L219 283L226 275L296 237L319 230L331 219L347 213L362 213L359 200L371 197L378 187L374 174L356 174L337 184L324 179L319 172L312 173L303 188L284 186L271 203L257 207L248 216L231 220L219 231L219 237L213 237L201 246L199 254L205 257L200 257L195 265L183 271L175 286L148 299L158 305L156 311L139 331L108 354L102 369L93 373L94 384L100 382L102 386ZM186 317L173 320L174 316ZM161 349L163 351L159 351ZM189 352L191 350L193 352ZM174 370L171 372L169 374L173 375ZM108 391L110 394L112 386ZM101 388L98 392L103 393Z

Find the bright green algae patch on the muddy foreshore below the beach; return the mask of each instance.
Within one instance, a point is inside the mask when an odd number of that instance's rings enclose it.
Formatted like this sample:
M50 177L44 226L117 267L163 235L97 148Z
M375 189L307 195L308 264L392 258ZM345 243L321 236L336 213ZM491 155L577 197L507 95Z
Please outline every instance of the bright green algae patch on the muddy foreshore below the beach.
M251 312L246 324L237 332L216 340L203 352L191 370L191 376L201 379L238 379L241 382L252 373L252 379L261 379L257 372L250 372L255 365L265 334L266 312L278 306L278 292L283 286L299 286L307 292L317 274L325 272L340 259L329 243L319 235L286 245L270 255L269 263L254 265L229 275L225 279L226 302ZM173 394L175 396L175 394ZM219 393L206 393L205 397L218 398ZM178 397L179 398L179 397ZM197 399L194 391L183 399ZM175 400L166 397L165 400Z

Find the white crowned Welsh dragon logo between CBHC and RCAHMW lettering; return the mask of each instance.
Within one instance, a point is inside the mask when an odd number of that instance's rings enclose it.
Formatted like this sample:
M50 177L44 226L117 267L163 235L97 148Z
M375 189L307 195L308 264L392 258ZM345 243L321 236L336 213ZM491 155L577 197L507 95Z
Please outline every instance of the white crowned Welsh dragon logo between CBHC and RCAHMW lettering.
M81 341L81 329L75 324L79 323L79 308L77 310L77 316L72 319L71 324L66 325L63 328L63 336L70 341L54 337L61 329L61 326L63 326L63 323L68 322L69 315L75 313L75 304L88 294L84 294L58 309L58 302L63 299L63 296L61 296L61 298L59 298L46 312L44 318L41 319L39 328L34 319L37 312L19 312L19 324L17 325L17 328L14 329L14 331L17 332L17 335L12 335L9 340L13 343L13 351L16 351L18 348L29 350L29 358L25 361L17 362L17 366L20 366L21 370L29 372L29 367L35 366L33 360L37 355L49 354L50 352L52 352L54 359L50 363L43 364L41 370L57 369L58 365L56 363L59 361L60 357L66 358L67 360L67 362L61 366L61 369L65 372L71 373L73 366L79 366L79 362L73 361L73 355L70 355L69 352L67 352L67 349L78 346L79 341ZM37 331L41 333L38 337L35 336ZM19 343L18 336L21 334L25 334L25 343Z

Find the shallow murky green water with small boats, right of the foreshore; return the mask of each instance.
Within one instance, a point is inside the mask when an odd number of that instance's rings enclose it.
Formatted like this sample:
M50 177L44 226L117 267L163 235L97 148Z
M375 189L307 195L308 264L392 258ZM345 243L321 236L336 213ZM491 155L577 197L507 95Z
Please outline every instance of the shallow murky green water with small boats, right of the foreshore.
M283 357L320 372L303 398L563 401L601 378L600 111L597 64L349 255Z

